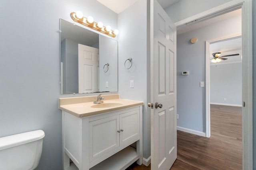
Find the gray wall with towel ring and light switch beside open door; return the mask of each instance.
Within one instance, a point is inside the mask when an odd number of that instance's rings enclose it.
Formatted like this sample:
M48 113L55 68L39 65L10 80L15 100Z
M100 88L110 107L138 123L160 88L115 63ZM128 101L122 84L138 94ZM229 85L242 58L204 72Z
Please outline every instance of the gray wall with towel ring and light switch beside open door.
M143 106L143 157L150 156L150 109L147 107L147 0L138 0L118 14L118 92L120 98L139 100ZM132 57L132 67L124 68ZM149 66L150 68L150 66ZM134 88L130 88L134 80Z

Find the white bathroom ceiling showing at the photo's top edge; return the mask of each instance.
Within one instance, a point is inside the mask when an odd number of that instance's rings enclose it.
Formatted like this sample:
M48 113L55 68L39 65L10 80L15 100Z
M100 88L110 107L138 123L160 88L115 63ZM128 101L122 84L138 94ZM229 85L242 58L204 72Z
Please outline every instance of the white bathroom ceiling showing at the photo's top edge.
M119 14L124 11L126 8L134 4L138 0L97 0L102 3L104 6L108 7L110 10ZM166 8L171 4L178 2L179 0L158 0L162 8Z

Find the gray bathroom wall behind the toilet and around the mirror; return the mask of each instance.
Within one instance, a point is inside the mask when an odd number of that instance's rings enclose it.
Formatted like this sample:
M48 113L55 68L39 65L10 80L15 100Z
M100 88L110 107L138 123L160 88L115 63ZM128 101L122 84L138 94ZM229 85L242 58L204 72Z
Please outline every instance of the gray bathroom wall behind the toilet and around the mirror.
M58 98L74 95L60 95L59 19L73 22L78 10L117 28L117 14L96 0L0 1L0 137L42 129L38 170L62 169Z

